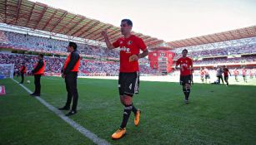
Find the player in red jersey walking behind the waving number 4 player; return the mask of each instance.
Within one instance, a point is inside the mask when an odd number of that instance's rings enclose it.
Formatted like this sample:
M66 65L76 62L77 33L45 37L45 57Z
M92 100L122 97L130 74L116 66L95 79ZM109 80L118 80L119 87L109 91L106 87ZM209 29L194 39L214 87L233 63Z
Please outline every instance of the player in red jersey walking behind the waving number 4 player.
M180 85L183 85L183 93L185 94L184 102L188 104L188 97L191 88L191 70L193 70L193 60L187 57L188 50L182 51L183 56L176 61L175 69L180 65Z

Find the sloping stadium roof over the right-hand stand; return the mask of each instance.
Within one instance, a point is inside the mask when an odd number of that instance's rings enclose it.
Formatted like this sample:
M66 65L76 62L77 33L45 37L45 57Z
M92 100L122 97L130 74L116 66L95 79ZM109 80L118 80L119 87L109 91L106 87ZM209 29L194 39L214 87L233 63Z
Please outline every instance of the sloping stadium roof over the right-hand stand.
M168 46L175 49L180 47L199 46L222 41L233 41L253 36L256 36L256 26L244 27L232 31L223 31L206 36L197 36L179 41L169 41Z

